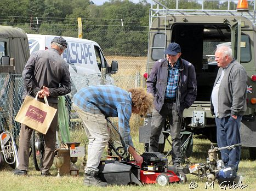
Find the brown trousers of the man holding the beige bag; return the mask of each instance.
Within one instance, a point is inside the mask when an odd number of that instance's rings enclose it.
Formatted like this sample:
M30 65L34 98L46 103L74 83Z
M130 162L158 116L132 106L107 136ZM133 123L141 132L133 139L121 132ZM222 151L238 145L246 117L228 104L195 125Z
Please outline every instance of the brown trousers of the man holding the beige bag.
M44 147L44 156L42 163L42 172L47 174L50 170L50 167L53 165L53 157L55 151L55 141L56 141L56 129L58 126L58 104L49 103L49 106L57 109L57 112L53 118L52 123L48 129L48 132L43 136L45 147ZM30 150L30 138L33 129L21 124L20 129L20 139L19 139L19 166L20 170L29 169L29 150Z

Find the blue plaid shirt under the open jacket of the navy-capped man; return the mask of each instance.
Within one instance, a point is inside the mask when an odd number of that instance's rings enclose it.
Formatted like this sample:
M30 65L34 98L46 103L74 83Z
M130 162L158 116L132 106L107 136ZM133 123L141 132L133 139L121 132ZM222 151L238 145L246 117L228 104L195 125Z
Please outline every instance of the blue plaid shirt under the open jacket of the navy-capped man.
M164 94L164 98L166 99L176 99L176 92L178 87L178 81L179 81L179 67L180 67L180 61L175 63L174 67L172 67L168 63L169 67L169 73L168 73L168 79L167 79L167 87L166 92Z

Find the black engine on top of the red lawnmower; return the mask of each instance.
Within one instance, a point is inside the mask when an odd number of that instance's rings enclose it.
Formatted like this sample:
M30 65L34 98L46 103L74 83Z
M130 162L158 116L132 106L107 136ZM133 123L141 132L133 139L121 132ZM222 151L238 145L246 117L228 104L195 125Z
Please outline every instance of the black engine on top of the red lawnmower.
M167 158L158 152L146 152L141 155L143 163L141 170L152 172L166 172L167 171Z

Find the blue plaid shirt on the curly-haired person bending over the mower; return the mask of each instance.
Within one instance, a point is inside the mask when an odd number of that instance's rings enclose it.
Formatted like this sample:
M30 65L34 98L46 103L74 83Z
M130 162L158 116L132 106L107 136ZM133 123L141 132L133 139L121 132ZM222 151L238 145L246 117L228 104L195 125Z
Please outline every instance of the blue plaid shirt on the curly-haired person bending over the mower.
M73 103L92 114L118 117L118 130L125 144L124 149L128 150L129 145L133 146L129 126L132 98L129 92L111 85L88 86L75 94Z

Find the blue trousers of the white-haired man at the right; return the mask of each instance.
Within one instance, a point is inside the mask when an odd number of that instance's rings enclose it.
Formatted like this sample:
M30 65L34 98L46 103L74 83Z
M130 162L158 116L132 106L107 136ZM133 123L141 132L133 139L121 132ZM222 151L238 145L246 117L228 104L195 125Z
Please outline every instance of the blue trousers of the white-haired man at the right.
M225 147L241 143L240 126L242 116L237 116L235 120L232 116L223 118L215 117L217 126L218 147ZM234 147L230 150L221 150L221 159L225 166L234 166L238 169L240 162L241 147Z

